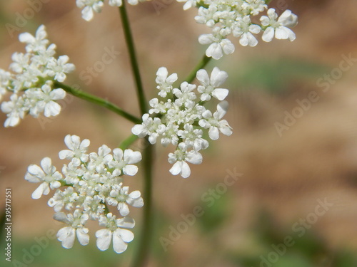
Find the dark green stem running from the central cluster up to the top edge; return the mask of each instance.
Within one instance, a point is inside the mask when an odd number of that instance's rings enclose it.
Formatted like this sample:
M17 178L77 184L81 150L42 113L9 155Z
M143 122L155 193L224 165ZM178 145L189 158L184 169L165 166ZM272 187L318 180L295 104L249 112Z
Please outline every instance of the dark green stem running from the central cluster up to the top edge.
M148 109L147 109L146 99L145 99L145 95L144 95L143 84L141 82L139 64L138 64L138 60L136 58L134 39L133 39L133 35L131 33L129 18L128 18L128 14L126 13L125 5L126 5L125 1L123 1L123 4L121 6L119 6L119 12L121 15L121 23L123 24L126 46L129 51L129 57L130 57L130 61L131 61L131 70L133 71L134 80L136 83L136 93L137 93L138 99L139 99L140 111L141 111L141 115L143 115L144 113L147 112Z

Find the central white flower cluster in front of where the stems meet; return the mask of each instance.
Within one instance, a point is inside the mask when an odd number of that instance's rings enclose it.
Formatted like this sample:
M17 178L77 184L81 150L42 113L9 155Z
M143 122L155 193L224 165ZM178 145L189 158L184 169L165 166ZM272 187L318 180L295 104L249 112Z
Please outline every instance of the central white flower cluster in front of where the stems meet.
M156 75L157 89L163 100L151 99L149 113L143 115L142 124L134 125L131 132L139 137L149 135L151 144L155 144L159 138L164 147L170 143L175 145L175 152L169 154L169 162L174 164L170 172L186 178L191 174L187 162L201 164L202 155L199 151L208 147L203 130L208 130L211 140L217 140L219 132L223 135L232 134L228 122L222 120L228 110L228 103L223 101L228 89L220 86L228 75L218 68L213 68L211 77L206 70L198 70L196 78L200 85L183 82L180 88L173 86L177 74L169 75L165 67L159 68ZM221 100L213 114L203 107L212 97Z

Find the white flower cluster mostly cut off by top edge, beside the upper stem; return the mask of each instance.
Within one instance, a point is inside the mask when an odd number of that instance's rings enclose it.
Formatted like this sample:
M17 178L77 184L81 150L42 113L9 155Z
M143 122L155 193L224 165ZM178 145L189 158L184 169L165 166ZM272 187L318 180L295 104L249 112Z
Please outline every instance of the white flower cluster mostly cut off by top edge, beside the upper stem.
M146 0L127 0L131 5L137 5L139 2ZM109 6L121 6L123 0L109 0ZM91 21L94 17L94 12L100 13L104 6L104 0L76 0L76 5L82 9L82 18L86 21Z

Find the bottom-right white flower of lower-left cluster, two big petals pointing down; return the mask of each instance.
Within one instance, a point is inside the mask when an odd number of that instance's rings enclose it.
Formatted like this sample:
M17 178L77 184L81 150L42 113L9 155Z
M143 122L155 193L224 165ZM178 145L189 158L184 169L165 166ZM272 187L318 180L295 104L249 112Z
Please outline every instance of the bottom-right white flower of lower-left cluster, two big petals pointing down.
M133 228L135 222L129 217L123 219L116 219L116 216L109 213L106 216L101 215L99 218L99 225L105 226L106 229L100 229L96 231L96 246L105 251L111 244L113 239L113 248L116 253L122 253L126 251L128 247L127 243L134 239L134 234L123 228Z

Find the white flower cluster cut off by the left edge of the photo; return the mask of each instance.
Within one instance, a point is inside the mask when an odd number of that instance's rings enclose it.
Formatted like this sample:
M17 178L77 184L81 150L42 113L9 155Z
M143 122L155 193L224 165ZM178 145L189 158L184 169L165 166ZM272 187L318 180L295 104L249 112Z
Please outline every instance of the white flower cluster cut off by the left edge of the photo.
M59 115L61 106L56 100L64 99L66 92L53 88L53 80L63 82L66 73L74 70L67 63L68 56L54 58L56 45L49 45L45 27L39 26L36 35L21 33L19 40L26 43L26 53L14 53L10 73L0 69L0 100L2 95L11 92L10 101L1 104L7 114L5 127L16 126L26 114L38 117L44 112L46 117ZM49 45L49 46L48 46Z

